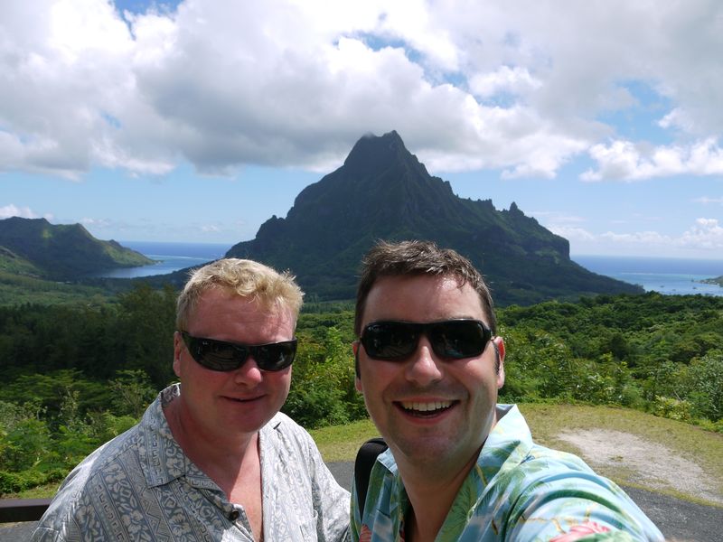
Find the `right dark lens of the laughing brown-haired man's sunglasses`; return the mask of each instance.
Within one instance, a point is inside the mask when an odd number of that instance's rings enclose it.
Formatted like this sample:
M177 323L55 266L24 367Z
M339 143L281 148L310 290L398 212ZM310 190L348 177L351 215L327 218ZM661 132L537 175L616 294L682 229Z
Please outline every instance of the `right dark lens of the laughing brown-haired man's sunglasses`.
M438 356L462 360L479 356L491 333L474 320L450 320L429 326L429 341Z

